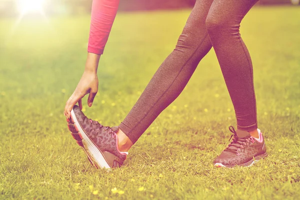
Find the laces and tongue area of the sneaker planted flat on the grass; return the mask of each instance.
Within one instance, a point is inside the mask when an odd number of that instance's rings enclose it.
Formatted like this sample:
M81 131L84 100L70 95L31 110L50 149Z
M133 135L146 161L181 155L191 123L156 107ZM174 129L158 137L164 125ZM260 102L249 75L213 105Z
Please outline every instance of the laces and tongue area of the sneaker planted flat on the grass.
M239 154L237 152L238 149L244 148L244 146L249 145L250 142L252 142L252 143L254 142L252 137L238 137L235 129L233 128L233 126L229 126L229 130L233 134L231 134L228 141L230 141L230 139L232 137L233 137L233 139L230 142L230 144L228 144L227 148L224 149L224 151Z

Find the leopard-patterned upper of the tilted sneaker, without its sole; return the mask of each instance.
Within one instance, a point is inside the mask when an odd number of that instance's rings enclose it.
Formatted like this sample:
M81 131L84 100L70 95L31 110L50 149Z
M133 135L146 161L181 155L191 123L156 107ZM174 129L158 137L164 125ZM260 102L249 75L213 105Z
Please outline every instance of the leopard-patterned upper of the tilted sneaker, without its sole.
M117 127L103 126L98 121L87 118L80 108L73 107L76 119L89 139L101 151L110 167L118 167L126 159L126 153L117 147Z

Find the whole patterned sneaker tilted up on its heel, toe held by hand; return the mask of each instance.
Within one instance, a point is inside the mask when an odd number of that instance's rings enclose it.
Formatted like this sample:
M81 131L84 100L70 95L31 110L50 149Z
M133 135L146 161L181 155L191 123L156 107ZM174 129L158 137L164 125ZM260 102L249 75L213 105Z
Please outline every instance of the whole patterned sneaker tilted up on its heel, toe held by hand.
M67 126L92 165L97 168L114 168L123 164L128 152L118 150L115 133L118 127L103 126L87 118L77 105L71 110Z

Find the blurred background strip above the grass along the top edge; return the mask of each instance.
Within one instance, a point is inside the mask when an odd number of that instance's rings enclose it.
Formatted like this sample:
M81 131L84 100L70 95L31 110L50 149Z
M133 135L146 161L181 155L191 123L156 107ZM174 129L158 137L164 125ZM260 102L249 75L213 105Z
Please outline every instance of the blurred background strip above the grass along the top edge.
M16 16L24 9L32 14L41 8L46 15L89 13L92 0L0 0L0 16ZM195 0L120 0L119 10L156 10L192 7ZM257 5L299 5L300 0L259 0Z

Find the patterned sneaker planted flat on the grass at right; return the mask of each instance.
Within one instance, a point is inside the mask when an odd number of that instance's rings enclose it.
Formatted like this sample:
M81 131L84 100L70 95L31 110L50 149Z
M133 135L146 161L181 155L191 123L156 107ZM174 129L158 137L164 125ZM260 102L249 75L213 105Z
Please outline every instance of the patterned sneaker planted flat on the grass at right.
M267 156L262 133L257 128L259 138L252 137L249 132L235 131L232 126L229 130L233 133L233 140L219 156L213 161L217 167L251 166L254 162ZM229 141L230 141L229 139Z

